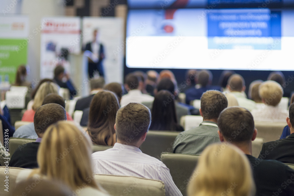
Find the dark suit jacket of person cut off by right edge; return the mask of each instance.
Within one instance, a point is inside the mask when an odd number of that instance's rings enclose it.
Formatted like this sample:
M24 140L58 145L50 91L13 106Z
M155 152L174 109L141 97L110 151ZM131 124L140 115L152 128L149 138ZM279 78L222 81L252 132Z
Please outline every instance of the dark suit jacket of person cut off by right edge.
M294 164L294 133L288 138L264 143L258 158L262 157Z

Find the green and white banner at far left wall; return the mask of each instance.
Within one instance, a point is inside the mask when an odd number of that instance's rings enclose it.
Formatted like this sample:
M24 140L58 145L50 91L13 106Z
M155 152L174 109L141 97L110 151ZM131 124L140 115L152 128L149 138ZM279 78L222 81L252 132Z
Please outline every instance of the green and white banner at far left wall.
M29 17L0 16L0 83L14 83L19 65L26 65Z

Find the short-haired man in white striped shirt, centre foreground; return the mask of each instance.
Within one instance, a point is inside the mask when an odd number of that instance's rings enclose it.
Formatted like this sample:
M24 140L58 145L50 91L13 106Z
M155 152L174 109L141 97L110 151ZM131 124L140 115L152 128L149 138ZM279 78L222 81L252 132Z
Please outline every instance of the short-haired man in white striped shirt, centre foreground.
M94 173L144 177L164 182L166 195L180 196L169 169L160 160L139 149L151 122L150 110L129 103L116 114L116 143L113 148L92 154Z

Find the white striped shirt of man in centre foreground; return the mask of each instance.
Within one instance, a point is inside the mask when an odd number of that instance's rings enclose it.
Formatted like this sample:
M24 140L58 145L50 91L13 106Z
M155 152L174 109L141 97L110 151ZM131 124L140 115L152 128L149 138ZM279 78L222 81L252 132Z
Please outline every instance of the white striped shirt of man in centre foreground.
M161 180L166 195L181 196L169 169L160 160L142 153L136 146L115 143L113 148L92 154L94 173Z

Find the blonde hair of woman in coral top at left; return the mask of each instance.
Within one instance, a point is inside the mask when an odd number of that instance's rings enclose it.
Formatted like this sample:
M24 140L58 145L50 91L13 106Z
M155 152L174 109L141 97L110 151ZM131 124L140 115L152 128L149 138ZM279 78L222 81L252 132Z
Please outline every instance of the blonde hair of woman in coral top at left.
M58 86L53 82L41 84L34 98L34 104L32 106L34 111L42 105L44 98L50 93L58 94Z

